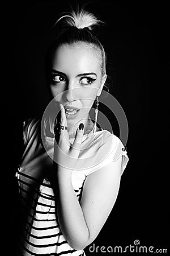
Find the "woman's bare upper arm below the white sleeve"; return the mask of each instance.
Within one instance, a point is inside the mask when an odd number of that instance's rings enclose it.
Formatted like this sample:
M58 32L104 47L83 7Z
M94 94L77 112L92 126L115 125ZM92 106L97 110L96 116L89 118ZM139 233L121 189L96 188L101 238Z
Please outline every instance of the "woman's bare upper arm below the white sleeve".
M118 195L122 158L86 177L80 201L90 244L107 220Z

